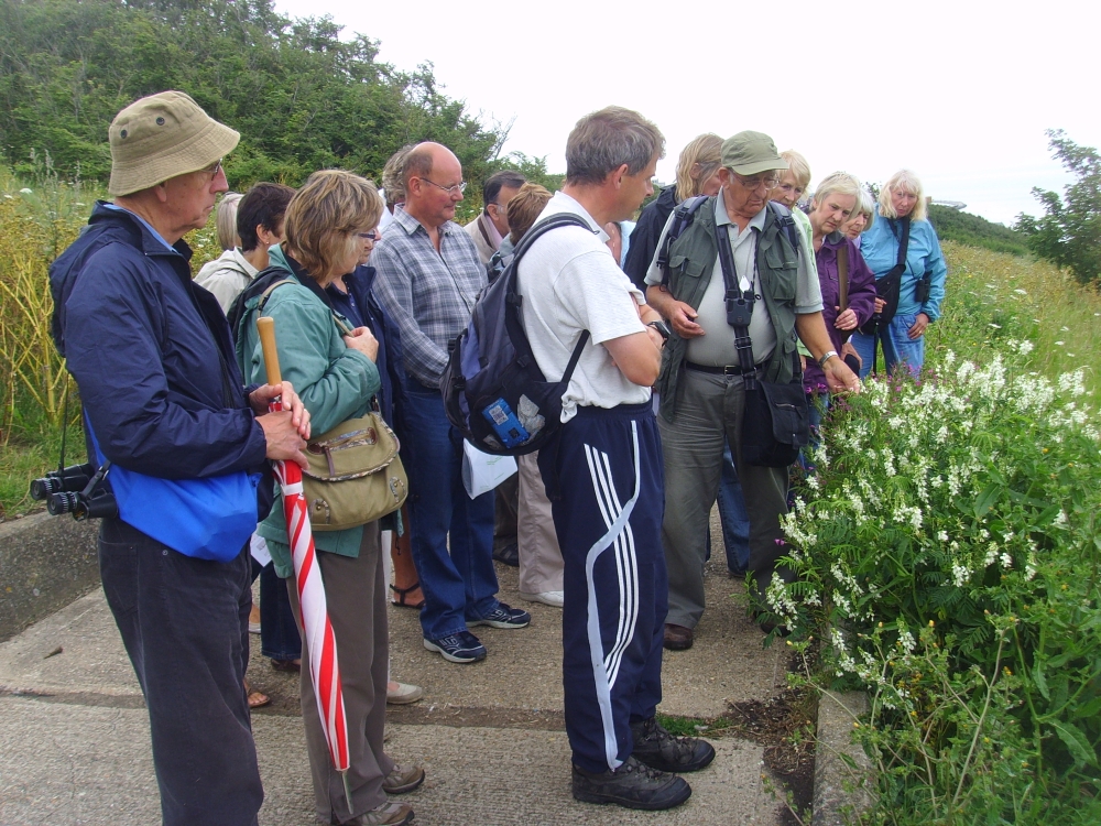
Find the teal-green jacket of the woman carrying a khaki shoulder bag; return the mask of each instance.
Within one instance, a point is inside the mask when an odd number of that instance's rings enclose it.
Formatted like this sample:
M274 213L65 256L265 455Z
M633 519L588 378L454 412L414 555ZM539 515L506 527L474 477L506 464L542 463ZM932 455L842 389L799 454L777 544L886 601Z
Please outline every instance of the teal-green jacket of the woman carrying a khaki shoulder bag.
M286 270L286 276L296 282L274 290L264 305L263 315L275 319L283 380L294 385L309 411L313 432L325 433L341 422L366 415L371 396L379 392L380 387L374 362L345 344L333 320L333 312L302 285L282 249L272 248L271 267ZM246 313L241 328L237 330L237 360L246 383L266 381L254 312L259 302L258 296L246 305L250 312ZM275 496L271 513L257 531L268 541L275 573L284 578L291 576L294 566L281 494ZM318 551L355 557L359 556L362 539L362 526L315 532L314 546Z

